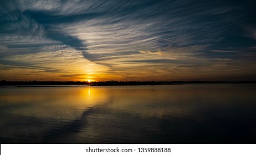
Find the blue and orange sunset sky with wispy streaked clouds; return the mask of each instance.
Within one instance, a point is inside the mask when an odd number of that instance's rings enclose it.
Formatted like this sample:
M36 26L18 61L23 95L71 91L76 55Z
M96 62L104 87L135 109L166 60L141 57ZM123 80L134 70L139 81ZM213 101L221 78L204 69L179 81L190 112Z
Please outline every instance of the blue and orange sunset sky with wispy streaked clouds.
M0 80L256 80L256 1L0 1Z

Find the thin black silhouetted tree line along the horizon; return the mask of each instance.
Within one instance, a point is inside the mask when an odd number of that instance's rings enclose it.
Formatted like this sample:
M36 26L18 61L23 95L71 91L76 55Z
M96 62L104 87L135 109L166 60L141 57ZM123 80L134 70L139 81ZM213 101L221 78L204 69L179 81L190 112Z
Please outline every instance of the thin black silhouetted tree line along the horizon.
M256 81L6 81L1 80L0 86L24 85L92 85L92 86L119 86L119 85L177 85L177 84L216 84L216 83L256 83Z

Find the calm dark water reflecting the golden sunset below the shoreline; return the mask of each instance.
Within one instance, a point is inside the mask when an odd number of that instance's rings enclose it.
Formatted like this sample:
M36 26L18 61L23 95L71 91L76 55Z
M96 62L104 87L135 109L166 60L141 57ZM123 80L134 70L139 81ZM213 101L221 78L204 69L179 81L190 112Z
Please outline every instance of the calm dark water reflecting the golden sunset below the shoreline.
M255 84L2 87L1 143L256 143Z

